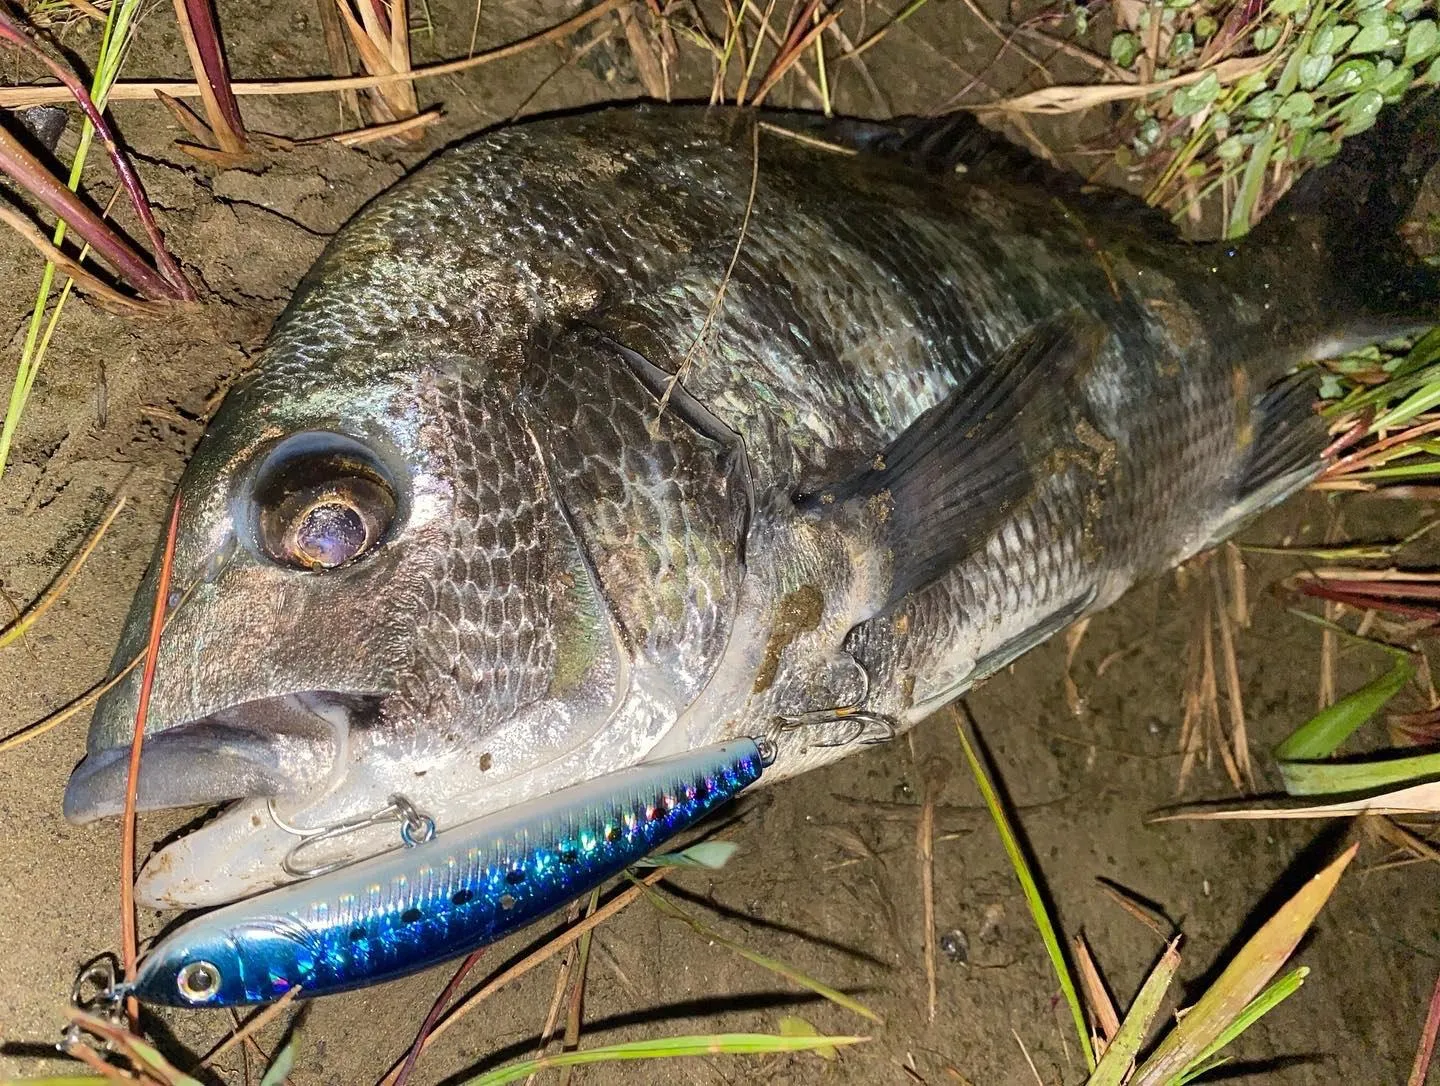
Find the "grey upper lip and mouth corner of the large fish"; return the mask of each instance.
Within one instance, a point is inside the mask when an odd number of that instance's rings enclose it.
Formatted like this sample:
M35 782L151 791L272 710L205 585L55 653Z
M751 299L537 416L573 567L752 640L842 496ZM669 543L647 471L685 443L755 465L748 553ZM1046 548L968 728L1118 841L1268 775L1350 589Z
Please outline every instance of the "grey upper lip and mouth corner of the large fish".
M344 766L350 730L374 720L377 694L310 690L222 709L145 736L138 811L213 807L232 799L305 794ZM125 808L130 745L91 750L65 786L76 825Z

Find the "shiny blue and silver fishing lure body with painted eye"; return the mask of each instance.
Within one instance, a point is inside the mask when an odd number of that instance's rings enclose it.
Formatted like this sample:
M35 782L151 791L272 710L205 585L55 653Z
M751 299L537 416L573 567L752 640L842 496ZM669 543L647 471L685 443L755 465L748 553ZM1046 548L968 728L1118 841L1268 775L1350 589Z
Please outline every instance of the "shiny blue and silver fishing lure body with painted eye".
M328 995L418 972L554 912L759 779L736 739L631 766L433 840L209 912L124 991L173 1007Z

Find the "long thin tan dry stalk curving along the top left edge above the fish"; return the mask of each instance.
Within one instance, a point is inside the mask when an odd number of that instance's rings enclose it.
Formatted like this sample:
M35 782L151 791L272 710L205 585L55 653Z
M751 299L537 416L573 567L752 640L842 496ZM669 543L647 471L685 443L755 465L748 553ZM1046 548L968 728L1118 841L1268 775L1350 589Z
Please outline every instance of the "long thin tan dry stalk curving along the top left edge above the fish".
M566 19L563 23L552 26L549 30L521 37L517 42L490 49L474 56L464 56L458 60L446 60L426 68L412 68L408 72L389 72L386 75L351 75L343 79L265 79L255 82L230 84L230 92L236 97L245 95L287 95L287 94L334 94L337 91L366 91L372 86L386 86L410 79L433 79L441 75L455 75L471 68L518 56L530 49L549 42L569 37L576 30L589 26L598 19L603 19L621 4L631 0L600 0L595 7L588 7L579 14ZM111 86L108 99L144 101L154 98L156 92L167 94L171 98L199 98L200 86L193 82L117 82ZM0 108L24 109L32 105L48 105L49 102L63 102L68 94L60 86L6 86L0 88Z

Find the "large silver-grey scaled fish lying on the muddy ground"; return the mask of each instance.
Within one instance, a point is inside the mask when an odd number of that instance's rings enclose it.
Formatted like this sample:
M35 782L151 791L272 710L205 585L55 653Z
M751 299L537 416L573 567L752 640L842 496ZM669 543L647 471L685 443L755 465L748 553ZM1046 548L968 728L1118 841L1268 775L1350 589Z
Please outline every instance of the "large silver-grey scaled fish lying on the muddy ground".
M444 833L737 736L782 781L1227 539L1325 465L1308 363L1437 320L1387 166L1434 111L1390 112L1207 243L963 115L628 105L438 154L331 239L179 484L137 799L219 814L138 899L295 881L297 827L393 795ZM122 809L138 690L72 822Z

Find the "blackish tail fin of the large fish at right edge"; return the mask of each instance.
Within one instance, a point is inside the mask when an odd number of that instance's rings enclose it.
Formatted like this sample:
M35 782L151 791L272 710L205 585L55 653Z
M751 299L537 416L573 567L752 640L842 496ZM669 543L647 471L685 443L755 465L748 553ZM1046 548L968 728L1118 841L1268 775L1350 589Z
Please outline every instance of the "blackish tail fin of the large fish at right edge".
M1326 166L1302 177L1256 228L1256 241L1325 259L1331 313L1342 340L1403 336L1440 323L1440 272L1405 245L1400 228L1421 183L1440 163L1440 92L1424 91L1382 109Z

